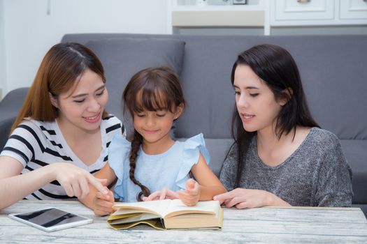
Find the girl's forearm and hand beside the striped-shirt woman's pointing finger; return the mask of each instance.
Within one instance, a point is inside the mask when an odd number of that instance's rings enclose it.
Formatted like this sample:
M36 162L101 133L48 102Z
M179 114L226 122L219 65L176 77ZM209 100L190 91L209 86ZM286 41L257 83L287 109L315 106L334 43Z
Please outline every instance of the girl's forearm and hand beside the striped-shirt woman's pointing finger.
M104 185L110 185L116 179L115 172L110 168L108 163L94 174L94 177L106 179ZM113 192L106 187L105 190L108 191L107 194L103 194L101 190L97 190L93 185L89 185L89 194L84 198L80 197L79 200L85 204L85 206L91 208L96 215L110 214L113 212L113 203L115 199L113 198Z

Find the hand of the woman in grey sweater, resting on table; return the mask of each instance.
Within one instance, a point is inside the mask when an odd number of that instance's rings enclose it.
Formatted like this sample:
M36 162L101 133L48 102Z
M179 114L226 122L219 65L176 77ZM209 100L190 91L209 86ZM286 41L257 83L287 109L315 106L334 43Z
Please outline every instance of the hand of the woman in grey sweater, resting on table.
M233 206L236 208L257 208L271 206L273 197L276 196L265 190L236 188L230 192L214 196L213 199L220 201L220 204L224 204L227 208Z

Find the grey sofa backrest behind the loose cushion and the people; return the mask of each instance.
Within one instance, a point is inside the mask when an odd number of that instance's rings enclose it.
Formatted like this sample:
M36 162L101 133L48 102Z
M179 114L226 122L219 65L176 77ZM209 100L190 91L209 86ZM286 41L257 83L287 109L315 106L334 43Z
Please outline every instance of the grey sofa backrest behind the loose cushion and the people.
M247 48L272 43L285 47L294 56L311 113L319 125L340 139L367 139L367 113L364 112L367 105L367 36L101 33L68 34L62 42L87 43L90 40L126 37L185 41L180 78L188 107L177 121L176 137L190 137L203 132L206 138L231 138L234 96L230 74L233 62ZM120 105L116 106L118 108L115 109L120 109Z

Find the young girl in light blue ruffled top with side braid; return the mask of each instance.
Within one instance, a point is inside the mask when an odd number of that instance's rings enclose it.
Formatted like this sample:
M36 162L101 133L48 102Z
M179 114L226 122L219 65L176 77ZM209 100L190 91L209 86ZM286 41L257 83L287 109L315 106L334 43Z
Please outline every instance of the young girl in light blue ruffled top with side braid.
M207 165L203 135L185 142L175 142L170 136L173 121L185 107L180 82L171 69L147 68L136 73L123 99L133 117L134 138L128 142L116 136L110 144L108 165L96 174L107 178L108 184L117 177L115 196L120 201L178 197L193 206L226 191ZM112 193L94 191L82 201L99 215L113 211Z

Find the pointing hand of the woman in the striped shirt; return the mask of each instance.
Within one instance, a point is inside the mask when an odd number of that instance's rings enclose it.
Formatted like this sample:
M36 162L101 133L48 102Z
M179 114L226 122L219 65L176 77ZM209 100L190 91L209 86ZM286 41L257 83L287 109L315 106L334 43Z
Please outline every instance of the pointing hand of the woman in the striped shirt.
M55 180L59 181L69 197L85 198L89 193L88 183L102 194L108 194L102 185L106 184L106 179L95 178L85 169L66 162L57 162L50 167L52 167L51 174L54 174Z

